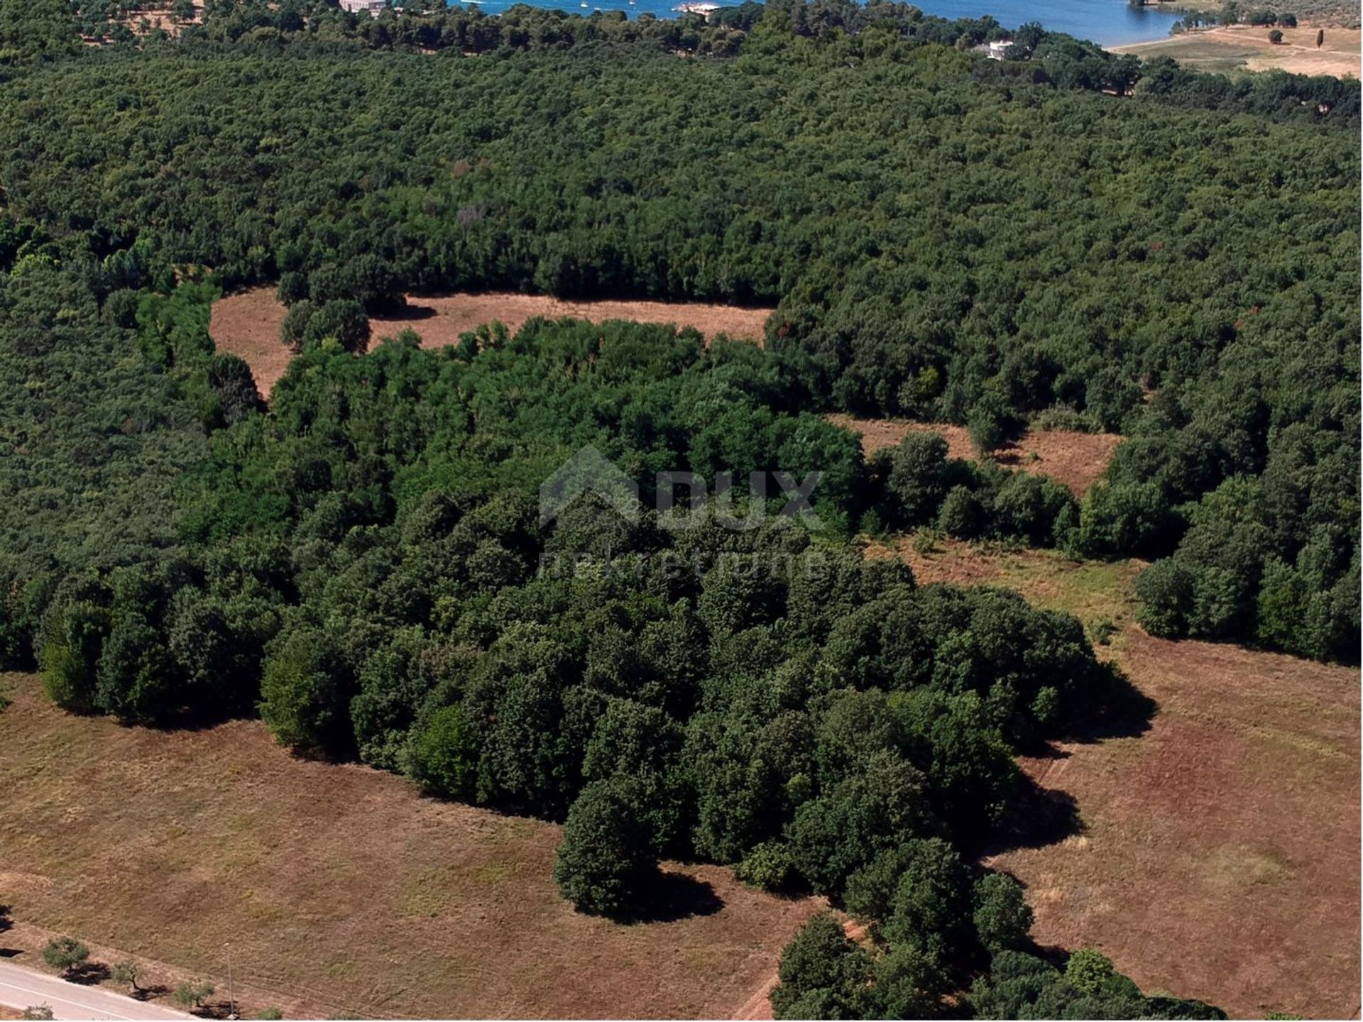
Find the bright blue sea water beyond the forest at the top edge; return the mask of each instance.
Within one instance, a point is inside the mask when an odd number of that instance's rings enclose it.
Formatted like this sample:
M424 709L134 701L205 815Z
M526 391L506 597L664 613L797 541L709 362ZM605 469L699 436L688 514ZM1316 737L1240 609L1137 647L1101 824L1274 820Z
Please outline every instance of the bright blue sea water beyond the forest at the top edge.
M450 4L468 0L450 0ZM536 7L555 7L574 14L592 11L624 11L631 18L649 12L658 18L676 18L682 0L483 0L478 7L487 14L499 14L514 3ZM741 0L714 0L737 4ZM917 0L924 14L939 18L981 18L994 15L1000 25L1015 29L1025 22L1040 22L1050 31L1063 31L1081 40L1092 40L1103 46L1124 42L1163 40L1178 15L1133 7L1126 0Z

